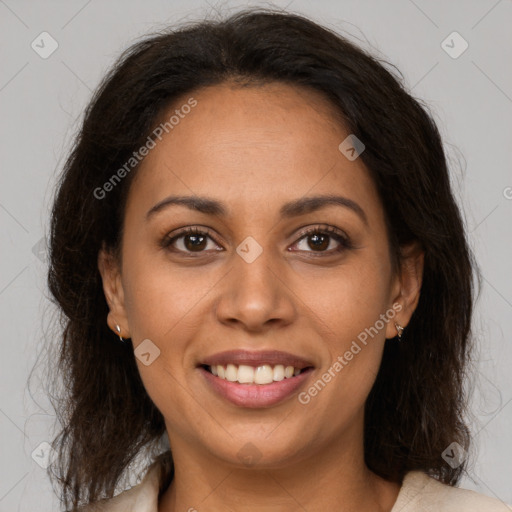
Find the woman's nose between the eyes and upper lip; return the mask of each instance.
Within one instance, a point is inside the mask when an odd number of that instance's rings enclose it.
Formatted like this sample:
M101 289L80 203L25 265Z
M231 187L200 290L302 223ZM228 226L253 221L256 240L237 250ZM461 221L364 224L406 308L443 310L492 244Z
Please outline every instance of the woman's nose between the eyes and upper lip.
M264 250L248 263L233 255L233 267L225 275L216 302L217 319L230 327L250 332L286 326L294 321L297 308L286 271Z

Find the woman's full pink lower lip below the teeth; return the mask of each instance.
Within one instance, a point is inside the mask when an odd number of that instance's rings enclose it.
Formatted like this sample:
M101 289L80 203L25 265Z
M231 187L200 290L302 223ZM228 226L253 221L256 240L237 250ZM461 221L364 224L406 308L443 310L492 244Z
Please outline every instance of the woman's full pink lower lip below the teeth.
M212 389L239 407L270 407L291 396L309 378L313 368L296 377L271 384L240 384L216 377L203 367L198 368Z

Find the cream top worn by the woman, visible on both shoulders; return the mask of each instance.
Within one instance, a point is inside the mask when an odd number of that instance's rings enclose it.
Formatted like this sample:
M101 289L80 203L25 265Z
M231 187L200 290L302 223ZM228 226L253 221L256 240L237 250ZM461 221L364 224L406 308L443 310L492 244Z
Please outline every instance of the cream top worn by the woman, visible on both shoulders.
M160 467L153 463L140 484L84 512L158 512ZM193 508L192 508L193 510ZM405 475L391 512L510 512L502 501L442 484L421 471Z

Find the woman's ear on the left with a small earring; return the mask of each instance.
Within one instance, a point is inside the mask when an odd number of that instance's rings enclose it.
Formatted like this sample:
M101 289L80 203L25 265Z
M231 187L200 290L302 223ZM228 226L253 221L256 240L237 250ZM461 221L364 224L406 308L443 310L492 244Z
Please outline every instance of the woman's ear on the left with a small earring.
M117 258L105 245L98 253L98 269L103 280L103 292L110 309L107 316L107 323L110 329L123 338L130 338L130 329L124 305L124 290L121 281L121 269ZM121 333L116 329L121 328Z

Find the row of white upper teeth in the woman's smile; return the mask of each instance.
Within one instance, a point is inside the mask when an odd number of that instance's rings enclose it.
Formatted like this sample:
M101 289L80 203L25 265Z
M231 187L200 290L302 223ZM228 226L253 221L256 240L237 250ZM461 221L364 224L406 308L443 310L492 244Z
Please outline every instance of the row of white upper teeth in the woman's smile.
M210 372L224 380L239 382L240 384L270 384L283 379L290 379L300 374L299 368L276 364L274 367L269 364L253 367L246 364L239 366L228 364L225 367L218 364L209 367Z

